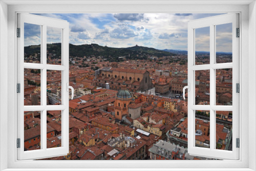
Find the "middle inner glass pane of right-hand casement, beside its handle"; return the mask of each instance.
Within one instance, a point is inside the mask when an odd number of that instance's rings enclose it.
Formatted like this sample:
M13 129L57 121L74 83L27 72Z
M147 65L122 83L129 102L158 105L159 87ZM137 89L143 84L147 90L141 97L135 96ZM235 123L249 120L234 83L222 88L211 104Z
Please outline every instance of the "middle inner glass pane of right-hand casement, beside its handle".
M195 71L196 104L210 104L210 70Z

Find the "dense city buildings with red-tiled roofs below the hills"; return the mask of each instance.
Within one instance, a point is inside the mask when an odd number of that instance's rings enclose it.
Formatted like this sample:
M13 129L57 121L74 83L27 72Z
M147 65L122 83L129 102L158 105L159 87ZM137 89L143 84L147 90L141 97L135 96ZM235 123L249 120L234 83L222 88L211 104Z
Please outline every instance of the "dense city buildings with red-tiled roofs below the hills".
M59 63L53 53L49 55L49 62ZM187 103L155 95L182 93L187 84L187 66L179 61L185 58L177 55L117 63L97 57L72 57L70 85L75 98L69 101L70 151L47 160L206 159L187 153ZM218 104L231 104L231 73L216 72ZM60 80L58 71L47 72L47 104L61 104ZM25 105L39 105L40 72L27 69L24 81ZM206 71L196 73L196 95L198 104L209 104ZM207 111L197 114L209 116ZM224 121L231 123L231 116L231 112L217 114L217 119L223 121L216 124L218 149L230 150L232 126ZM40 112L24 113L26 151L40 149L40 119ZM47 148L61 146L61 123L61 111L47 112ZM209 147L209 130L207 119L196 119L197 146Z

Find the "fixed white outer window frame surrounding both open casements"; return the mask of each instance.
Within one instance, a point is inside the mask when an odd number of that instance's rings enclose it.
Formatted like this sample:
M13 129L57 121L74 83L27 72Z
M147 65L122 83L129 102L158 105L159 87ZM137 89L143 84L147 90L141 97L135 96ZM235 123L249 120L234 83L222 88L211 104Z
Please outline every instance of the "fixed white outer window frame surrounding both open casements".
M126 168L133 170L255 170L255 112L256 112L256 6L255 1L122 1L122 2L91 2L91 1L2 1L0 7L0 167L7 170L39 170L36 168L48 168L47 170L75 170L75 168L83 168L82 170L120 170L118 168ZM7 4L10 6L7 6ZM50 5L51 3L51 5ZM61 5L80 4L80 5ZM81 5L83 3L83 5ZM115 3L115 5L113 5ZM11 5L13 4L13 5ZM27 4L26 6L20 4ZM28 5L30 4L30 5ZM33 4L33 5L31 5ZM40 4L40 5L38 5ZM52 5L56 4L56 5ZM189 4L189 5L187 5ZM203 5L201 5L203 4ZM249 13L248 13L249 11ZM240 39L240 78L241 80L241 108L240 113L240 159L238 161L17 161L16 160L16 133L14 125L16 109L13 108L13 101L16 99L16 49L15 44L15 28L16 13L224 13L239 12L241 21L241 39ZM8 16L8 19L7 19ZM8 28L8 29L7 29ZM8 34L8 36L7 36ZM248 36L250 34L250 36ZM3 37L5 39L3 39ZM8 44L6 41L8 40ZM3 58L3 56L8 56ZM243 59L243 60L242 60ZM250 62L249 62L250 61ZM8 63L8 66L5 66ZM250 72L248 70L250 69ZM8 71L8 76L6 75ZM250 78L250 79L249 79ZM3 83L4 82L4 83ZM6 84L8 82L8 84ZM6 89L8 88L8 91ZM248 90L250 89L250 93ZM8 101L6 102L6 97ZM250 99L250 101L249 101ZM250 104L250 105L248 105ZM8 106L8 108L3 108ZM249 114L249 112L251 114ZM4 115L4 114L8 115ZM7 120L7 122L6 122ZM6 131L6 127L8 129ZM252 131L248 136L248 131ZM13 134L14 133L14 134ZM243 141L244 140L244 141ZM249 142L250 141L250 148ZM8 157L6 157L8 156ZM100 162L100 164L98 164ZM71 168L72 165L72 169ZM87 168L84 168L87 167ZM51 168L51 169L50 169ZM62 169L61 169L62 168ZM70 169L67 169L70 168ZM112 169L111 169L112 168ZM77 170L76 169L76 170ZM23 169L24 170L24 169Z

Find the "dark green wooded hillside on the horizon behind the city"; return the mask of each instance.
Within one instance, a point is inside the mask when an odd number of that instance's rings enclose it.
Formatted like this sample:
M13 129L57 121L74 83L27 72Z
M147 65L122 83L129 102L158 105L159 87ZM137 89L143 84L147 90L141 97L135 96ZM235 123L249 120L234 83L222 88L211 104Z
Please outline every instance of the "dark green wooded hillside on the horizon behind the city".
M60 56L61 44L48 44L47 49L50 53L55 53L56 56ZM40 46L28 46L24 49L27 55L34 53L40 53ZM129 48L110 48L106 46L99 46L97 44L91 45L69 45L69 55L84 57L95 56L103 57L110 61L119 61L118 57L126 57L127 59L147 59L151 56L174 56L174 53L157 50L154 48L147 48L142 46L134 46Z

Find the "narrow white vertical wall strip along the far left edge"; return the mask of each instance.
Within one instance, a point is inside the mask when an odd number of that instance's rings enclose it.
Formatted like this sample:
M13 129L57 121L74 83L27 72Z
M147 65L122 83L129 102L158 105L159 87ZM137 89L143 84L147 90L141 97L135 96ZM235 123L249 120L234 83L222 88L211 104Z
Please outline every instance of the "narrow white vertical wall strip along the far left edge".
M7 33L8 33L8 7L0 1L0 170L7 168ZM4 141L2 141L4 140Z

